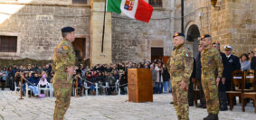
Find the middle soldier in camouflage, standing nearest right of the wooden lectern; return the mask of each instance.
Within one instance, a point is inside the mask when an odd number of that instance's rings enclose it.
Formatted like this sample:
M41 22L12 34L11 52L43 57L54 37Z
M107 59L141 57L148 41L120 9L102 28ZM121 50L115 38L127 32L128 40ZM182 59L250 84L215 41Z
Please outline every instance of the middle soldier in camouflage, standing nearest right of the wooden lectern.
M167 61L167 69L172 79L172 95L178 120L188 120L187 92L193 69L192 53L185 46L185 35L174 35L175 50Z

